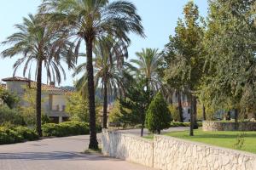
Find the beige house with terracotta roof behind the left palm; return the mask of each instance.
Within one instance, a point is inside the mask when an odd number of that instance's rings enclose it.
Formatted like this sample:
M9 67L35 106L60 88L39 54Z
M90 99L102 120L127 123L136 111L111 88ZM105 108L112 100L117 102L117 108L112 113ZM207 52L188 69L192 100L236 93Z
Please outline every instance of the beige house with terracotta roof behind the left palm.
M3 86L11 92L17 94L20 99L20 105L27 105L26 101L22 100L26 93L26 88L36 89L37 83L22 77L3 78L6 85ZM44 113L52 119L53 122L64 122L68 119L68 114L65 112L67 95L72 93L71 90L55 87L54 82L42 84L42 109Z

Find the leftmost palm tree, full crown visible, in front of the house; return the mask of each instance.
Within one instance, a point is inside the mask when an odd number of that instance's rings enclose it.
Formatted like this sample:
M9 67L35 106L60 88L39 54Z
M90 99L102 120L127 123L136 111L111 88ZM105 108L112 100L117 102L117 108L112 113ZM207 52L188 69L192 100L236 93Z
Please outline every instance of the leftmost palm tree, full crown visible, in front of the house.
M44 18L39 15L33 16L29 14L28 18L23 18L23 24L15 25L19 30L7 38L3 44L11 44L10 48L2 52L3 58L21 54L22 57L17 59L14 65L14 76L17 69L24 64L23 77L31 77L32 65L37 66L35 77L37 81L37 132L42 136L41 129L41 84L42 84L42 69L43 66L47 72L47 80L50 82L61 82L61 73L66 78L65 71L61 66L60 60L62 54L65 54L67 49L67 40L58 37L56 32L50 27L44 26Z

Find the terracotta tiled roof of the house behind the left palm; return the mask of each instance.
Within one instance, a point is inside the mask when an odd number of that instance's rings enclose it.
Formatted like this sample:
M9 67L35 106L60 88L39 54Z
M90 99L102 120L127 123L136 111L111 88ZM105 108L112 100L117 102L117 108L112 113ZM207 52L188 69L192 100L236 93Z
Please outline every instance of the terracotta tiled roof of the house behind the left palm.
M31 88L37 88L37 82L34 82L26 77L9 77L9 78L3 78L3 82L9 82L9 81L17 81L17 82L28 82L30 83ZM72 93L72 90L68 90L66 88L57 88L54 85L48 85L42 83L42 91L47 92L55 92L55 93Z

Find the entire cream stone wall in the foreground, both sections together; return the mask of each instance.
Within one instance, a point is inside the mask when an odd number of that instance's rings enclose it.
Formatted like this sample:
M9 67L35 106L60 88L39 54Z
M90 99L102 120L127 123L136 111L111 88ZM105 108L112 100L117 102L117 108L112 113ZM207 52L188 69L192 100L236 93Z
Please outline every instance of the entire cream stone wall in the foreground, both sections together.
M161 170L256 169L255 154L162 135L155 135L150 141L103 130L102 152Z

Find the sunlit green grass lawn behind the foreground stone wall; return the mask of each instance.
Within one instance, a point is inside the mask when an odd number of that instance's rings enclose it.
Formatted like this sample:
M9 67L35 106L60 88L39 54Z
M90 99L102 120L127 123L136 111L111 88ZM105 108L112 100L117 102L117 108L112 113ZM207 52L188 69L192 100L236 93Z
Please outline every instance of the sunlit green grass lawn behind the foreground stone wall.
M241 149L237 149L234 147L234 144L236 144L239 133L238 131L203 132L199 129L195 130L195 136L193 137L189 136L189 131L172 132L166 133L165 135L235 150L244 150L256 154L256 132L245 132L244 144ZM153 139L153 136L147 136L145 138Z

